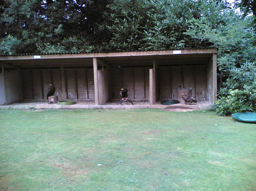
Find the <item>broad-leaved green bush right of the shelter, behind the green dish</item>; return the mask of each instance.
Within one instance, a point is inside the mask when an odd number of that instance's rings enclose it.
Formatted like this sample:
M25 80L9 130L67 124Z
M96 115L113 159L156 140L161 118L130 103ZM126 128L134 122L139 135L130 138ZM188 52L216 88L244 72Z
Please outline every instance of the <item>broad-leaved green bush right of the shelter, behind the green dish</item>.
M229 69L230 77L220 89L216 112L230 115L235 112L256 111L256 64L246 62L240 68Z

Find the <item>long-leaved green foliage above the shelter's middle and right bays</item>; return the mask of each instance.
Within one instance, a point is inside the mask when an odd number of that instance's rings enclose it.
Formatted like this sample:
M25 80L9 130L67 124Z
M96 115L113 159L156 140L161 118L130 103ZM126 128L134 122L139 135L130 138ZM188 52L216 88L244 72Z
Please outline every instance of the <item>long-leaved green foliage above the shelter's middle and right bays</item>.
M211 47L208 41L184 34L189 19L200 17L201 7L201 1L191 0L116 0L109 6L104 23L110 39L105 43L106 50Z

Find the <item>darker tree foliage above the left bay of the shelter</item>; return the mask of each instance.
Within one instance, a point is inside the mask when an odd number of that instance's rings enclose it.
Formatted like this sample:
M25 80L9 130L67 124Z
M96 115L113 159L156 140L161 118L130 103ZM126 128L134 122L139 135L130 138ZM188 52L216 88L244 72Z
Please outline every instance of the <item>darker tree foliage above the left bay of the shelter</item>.
M59 50L60 46L64 48L60 53L91 51L92 42L101 43L99 24L108 2L0 1L0 38L3 43L13 44L3 53L47 53L51 49Z

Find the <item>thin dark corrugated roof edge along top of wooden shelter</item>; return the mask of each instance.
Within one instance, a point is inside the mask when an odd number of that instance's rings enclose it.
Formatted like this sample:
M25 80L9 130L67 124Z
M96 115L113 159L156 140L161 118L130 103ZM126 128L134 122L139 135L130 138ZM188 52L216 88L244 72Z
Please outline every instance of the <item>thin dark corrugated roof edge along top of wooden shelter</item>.
M26 53L26 54L1 54L0 56L29 56L29 55L50 55L50 54L88 54L88 53L114 53L114 52L145 52L145 51L168 51L168 50L200 50L200 49L213 49L213 48L217 48L217 47L202 47L202 48L183 48L183 49L175 49L175 48L171 48L171 49L164 49L164 50L137 50L137 51L91 51L91 52L69 52L69 53Z

